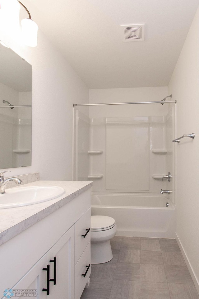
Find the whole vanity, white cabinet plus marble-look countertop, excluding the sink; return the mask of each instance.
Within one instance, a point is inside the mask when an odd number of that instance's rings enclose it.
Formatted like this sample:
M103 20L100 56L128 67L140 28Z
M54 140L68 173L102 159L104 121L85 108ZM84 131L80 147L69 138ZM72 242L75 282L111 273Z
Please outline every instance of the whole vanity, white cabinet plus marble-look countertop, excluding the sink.
M39 299L79 299L88 282L91 182L38 181L25 186L44 185L63 187L65 193L0 210L0 298L10 288L14 296L37 290Z

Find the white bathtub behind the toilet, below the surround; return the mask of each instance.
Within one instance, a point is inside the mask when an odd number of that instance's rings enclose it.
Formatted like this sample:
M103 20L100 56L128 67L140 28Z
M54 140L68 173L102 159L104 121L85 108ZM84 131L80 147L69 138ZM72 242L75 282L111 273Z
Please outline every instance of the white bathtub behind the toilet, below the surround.
M91 192L91 215L113 217L117 236L175 238L175 207L168 195Z

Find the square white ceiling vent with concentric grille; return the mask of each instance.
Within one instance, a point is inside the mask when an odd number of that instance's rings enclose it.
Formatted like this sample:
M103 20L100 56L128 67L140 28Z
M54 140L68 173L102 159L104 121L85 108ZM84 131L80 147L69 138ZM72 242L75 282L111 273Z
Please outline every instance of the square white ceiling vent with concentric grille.
M124 41L144 40L144 24L121 25L124 33Z

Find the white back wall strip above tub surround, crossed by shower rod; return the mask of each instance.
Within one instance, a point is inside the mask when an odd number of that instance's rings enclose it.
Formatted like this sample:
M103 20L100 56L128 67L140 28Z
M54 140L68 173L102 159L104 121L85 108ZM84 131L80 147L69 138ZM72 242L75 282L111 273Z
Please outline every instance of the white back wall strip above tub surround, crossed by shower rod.
M153 102L161 101L168 95L167 87L90 89L89 103ZM164 116L167 112L168 104L89 107L89 117Z

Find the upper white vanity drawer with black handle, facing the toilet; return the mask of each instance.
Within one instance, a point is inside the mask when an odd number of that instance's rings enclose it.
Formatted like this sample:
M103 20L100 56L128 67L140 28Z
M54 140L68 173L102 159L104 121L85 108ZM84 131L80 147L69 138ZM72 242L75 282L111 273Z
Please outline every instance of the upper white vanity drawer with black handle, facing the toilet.
M75 265L90 242L90 209L75 223ZM89 230L89 231L88 231ZM84 236L82 236L84 235Z

